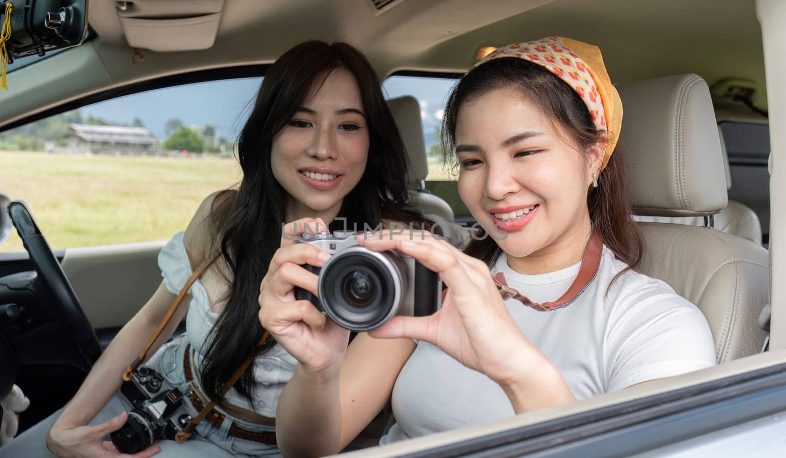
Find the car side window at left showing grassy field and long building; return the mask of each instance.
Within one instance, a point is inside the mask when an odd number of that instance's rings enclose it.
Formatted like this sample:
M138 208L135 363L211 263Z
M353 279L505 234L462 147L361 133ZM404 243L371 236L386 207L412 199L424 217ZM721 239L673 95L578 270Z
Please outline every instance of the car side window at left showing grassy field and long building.
M0 188L53 249L166 240L237 183L237 135L261 78L171 86L0 133ZM13 233L0 252L24 251Z

